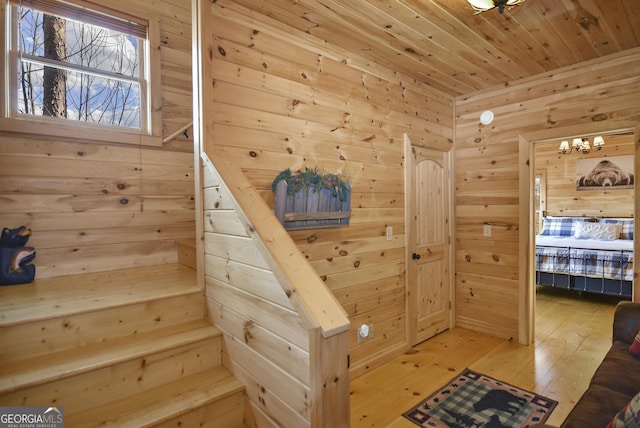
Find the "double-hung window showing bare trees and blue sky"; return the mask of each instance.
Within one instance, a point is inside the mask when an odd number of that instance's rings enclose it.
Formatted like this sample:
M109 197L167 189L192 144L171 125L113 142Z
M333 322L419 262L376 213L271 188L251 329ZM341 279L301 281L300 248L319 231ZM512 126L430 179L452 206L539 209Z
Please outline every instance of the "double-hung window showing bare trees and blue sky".
M153 134L148 22L87 5L5 4L3 119Z

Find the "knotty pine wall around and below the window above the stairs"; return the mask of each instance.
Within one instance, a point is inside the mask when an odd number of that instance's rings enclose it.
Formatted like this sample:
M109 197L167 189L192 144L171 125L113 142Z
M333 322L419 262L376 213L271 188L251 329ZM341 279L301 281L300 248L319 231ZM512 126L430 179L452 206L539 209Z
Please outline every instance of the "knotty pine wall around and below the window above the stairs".
M97 3L159 20L163 135L190 123L190 0ZM192 153L182 134L142 148L0 131L0 226L32 229L38 278L176 262L195 238Z

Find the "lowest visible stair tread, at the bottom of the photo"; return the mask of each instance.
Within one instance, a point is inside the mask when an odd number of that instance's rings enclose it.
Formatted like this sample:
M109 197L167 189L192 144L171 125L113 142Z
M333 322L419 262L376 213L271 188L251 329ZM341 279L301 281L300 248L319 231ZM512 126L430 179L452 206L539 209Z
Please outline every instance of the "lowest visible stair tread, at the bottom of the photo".
M140 394L125 397L78 414L65 414L69 426L148 427L191 411L243 394L244 386L220 366L167 383ZM234 425L240 425L239 420Z

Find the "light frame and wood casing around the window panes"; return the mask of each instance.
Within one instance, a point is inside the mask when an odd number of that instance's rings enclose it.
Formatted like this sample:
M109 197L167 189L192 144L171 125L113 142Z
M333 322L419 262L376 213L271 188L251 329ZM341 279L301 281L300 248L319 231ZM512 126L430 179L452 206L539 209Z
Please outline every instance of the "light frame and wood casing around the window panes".
M78 4L85 4L82 0L67 0ZM0 0L0 20L2 31L7 31L7 13L9 13L9 1ZM89 3L87 3L89 4ZM31 115L11 116L11 104L17 102L15 91L17 88L16 73L10 73L5 64L13 66L16 58L11 58L11 38L3 37L4 43L0 47L2 53L2 66L0 67L0 83L2 87L2 99L0 100L0 132L15 132L20 134L34 134L39 136L53 136L60 138L73 138L90 141L106 141L125 144L162 146L162 93L160 90L161 57L160 57L160 20L152 17L139 17L148 22L148 37L145 49L148 55L144 55L142 79L140 90L145 91L146 97L141 100L145 111L142 119L142 129L127 129L94 123L78 122L47 118L33 117ZM17 33L16 28L10 31ZM150 103L150 104L149 104ZM14 110L15 111L15 110Z

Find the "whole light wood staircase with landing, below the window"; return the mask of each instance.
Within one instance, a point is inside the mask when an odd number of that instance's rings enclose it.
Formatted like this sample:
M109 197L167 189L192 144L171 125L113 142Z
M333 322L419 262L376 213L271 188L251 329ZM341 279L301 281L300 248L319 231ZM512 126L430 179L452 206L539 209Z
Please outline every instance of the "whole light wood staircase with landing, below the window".
M246 427L195 271L162 265L0 287L0 406L65 426Z

